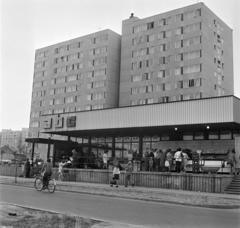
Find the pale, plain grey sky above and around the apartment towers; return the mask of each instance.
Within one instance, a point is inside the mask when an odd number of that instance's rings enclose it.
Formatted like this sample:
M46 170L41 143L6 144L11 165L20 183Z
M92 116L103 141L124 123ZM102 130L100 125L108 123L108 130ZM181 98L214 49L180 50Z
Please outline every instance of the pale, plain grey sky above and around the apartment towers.
M234 95L240 98L240 0L0 0L0 131L29 127L35 50L203 2L233 29ZM238 51L237 51L238 50Z

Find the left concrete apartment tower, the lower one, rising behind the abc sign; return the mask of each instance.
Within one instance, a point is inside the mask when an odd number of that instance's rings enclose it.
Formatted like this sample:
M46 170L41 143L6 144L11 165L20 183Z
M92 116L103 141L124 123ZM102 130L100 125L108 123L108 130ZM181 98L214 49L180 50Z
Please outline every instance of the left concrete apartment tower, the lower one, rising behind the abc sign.
M111 30L36 50L31 137L41 116L118 107L121 36Z

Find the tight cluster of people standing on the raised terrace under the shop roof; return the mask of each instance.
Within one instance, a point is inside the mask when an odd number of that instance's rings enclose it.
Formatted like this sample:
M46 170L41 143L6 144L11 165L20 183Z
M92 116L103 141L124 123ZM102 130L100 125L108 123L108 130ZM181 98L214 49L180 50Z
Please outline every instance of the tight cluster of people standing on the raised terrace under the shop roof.
M173 161L176 162L176 172L186 172L187 153L178 148L173 154L171 149L149 149L145 152L145 171L171 172Z

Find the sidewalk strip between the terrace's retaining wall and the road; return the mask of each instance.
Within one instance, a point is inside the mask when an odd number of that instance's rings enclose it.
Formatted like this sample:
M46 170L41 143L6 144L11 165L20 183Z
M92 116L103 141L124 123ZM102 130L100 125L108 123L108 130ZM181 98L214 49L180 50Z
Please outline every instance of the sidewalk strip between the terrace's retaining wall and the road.
M35 178L22 178L0 176L0 184L26 186L34 188ZM56 181L56 190L94 194L109 197L145 200L153 202L164 202L172 204L208 207L208 208L240 208L240 196L232 194L217 194L194 191L181 191L174 189L146 188L146 187L110 187L106 184L86 182ZM1 186L0 186L1 188Z

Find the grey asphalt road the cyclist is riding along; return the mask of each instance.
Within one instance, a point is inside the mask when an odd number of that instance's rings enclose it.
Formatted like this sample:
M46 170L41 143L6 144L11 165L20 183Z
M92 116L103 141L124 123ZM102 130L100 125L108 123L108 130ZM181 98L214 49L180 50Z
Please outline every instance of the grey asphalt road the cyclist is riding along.
M7 185L0 185L0 189L0 200L4 202L146 227L236 228L240 224L240 210L236 209L207 209L58 191L50 194Z

